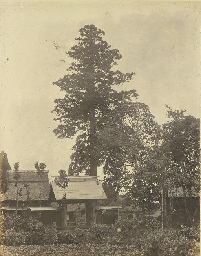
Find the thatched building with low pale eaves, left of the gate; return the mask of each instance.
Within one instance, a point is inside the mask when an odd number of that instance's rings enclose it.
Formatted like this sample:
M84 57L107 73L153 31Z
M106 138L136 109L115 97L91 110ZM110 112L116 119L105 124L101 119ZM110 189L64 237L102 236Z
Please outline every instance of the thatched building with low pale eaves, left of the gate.
M57 228L61 225L61 207L53 207L49 204L50 185L48 179L48 170L45 170L42 179L37 174L37 170L19 170L20 178L18 179L18 191L22 189L22 196L18 196L18 214L30 214L41 220L45 225L51 225L56 222ZM16 180L14 179L15 171L7 171L7 192L3 198L3 211L7 213L16 213ZM40 196L40 182L42 194ZM27 184L27 188L25 187ZM27 198L27 192L29 198ZM41 206L39 204L41 201Z

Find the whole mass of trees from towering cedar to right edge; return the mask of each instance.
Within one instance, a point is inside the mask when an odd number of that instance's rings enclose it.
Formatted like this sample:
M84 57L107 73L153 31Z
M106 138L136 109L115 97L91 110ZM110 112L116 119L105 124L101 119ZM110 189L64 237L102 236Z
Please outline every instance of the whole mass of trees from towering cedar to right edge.
M69 174L94 176L103 166L105 187L137 202L144 224L145 209L158 202L166 227L172 225L173 192L182 188L191 223L186 192L191 205L192 191L200 190L199 119L166 105L169 120L159 125L146 104L135 102L135 89L119 90L135 72L114 71L122 56L102 39L104 32L94 25L79 32L66 52L73 59L67 74L53 83L66 93L55 100L52 112L60 124L53 132L57 138L77 135Z

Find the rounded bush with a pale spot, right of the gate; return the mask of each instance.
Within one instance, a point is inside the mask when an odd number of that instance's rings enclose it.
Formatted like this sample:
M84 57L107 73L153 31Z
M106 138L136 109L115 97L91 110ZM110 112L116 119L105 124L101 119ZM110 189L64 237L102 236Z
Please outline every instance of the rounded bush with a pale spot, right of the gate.
M138 222L136 220L122 219L117 221L113 225L113 229L122 234L128 234L130 231L135 230L138 227Z

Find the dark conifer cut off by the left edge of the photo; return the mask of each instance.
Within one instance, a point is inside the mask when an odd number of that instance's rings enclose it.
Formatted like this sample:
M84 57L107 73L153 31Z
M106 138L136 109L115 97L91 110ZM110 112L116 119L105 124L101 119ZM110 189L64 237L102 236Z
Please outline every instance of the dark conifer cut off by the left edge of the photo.
M8 163L7 154L2 151L0 153L0 193L1 193L1 201L3 206L3 194L7 190L7 179L6 172L7 170L11 170L11 166ZM3 213L3 210L2 210Z

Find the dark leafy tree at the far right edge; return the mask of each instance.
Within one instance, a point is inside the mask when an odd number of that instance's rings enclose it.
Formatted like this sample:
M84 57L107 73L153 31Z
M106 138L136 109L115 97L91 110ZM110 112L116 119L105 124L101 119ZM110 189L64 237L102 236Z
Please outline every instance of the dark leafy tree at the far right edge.
M163 125L163 144L171 156L170 170L175 187L182 187L186 218L192 224L192 188L200 191L200 132L199 119L185 116L185 110L173 111L168 108L170 121ZM189 208L186 204L186 191L189 192ZM199 199L199 196L197 196Z

